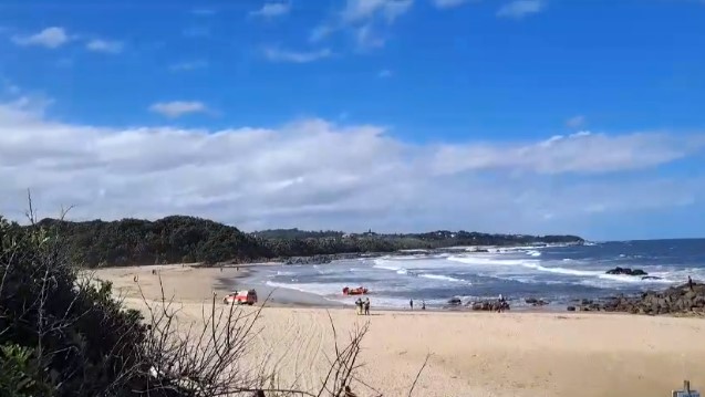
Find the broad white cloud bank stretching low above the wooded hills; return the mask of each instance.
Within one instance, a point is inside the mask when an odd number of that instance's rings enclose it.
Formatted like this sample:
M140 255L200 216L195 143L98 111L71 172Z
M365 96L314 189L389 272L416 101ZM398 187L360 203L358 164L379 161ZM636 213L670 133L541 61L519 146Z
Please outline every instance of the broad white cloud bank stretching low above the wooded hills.
M108 128L50 121L42 107L0 105L0 213L18 219L31 188L41 216L75 205L73 219L183 213L246 230L580 233L625 211L705 198L702 175L649 171L693 155L702 136L580 134L434 146L404 143L379 126L321 119L276 128ZM642 171L623 173L630 169ZM580 176L611 171L621 177Z

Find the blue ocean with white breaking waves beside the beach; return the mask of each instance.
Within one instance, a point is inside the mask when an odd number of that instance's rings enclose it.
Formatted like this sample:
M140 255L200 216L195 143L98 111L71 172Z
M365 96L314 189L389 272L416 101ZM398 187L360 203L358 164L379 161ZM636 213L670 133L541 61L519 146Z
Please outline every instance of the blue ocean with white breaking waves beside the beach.
M510 300L527 307L528 297L543 299L549 307L564 309L574 300L599 299L661 290L684 283L687 276L705 281L705 239L599 242L585 245L475 248L444 253L413 253L328 264L262 267L255 284L313 294L331 304L353 304L344 286L364 286L374 307L403 309L409 299L429 309L452 297ZM612 275L615 267L642 269L659 278Z

